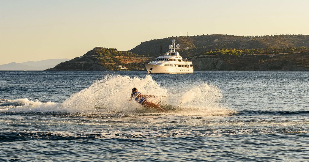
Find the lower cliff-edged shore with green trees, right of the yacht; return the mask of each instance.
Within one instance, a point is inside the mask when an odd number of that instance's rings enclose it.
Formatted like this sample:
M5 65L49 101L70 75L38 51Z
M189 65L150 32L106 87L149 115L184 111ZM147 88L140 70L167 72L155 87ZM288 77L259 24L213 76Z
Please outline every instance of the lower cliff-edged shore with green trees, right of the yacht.
M189 58L195 71L309 71L309 53L254 54L241 57L203 55Z

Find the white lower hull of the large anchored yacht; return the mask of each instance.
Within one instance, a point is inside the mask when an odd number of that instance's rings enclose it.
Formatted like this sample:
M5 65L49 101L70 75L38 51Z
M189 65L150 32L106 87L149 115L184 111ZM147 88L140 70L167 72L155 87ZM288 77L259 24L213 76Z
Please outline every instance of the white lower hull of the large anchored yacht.
M148 74L153 73L193 73L193 67L171 67L153 64L143 64Z

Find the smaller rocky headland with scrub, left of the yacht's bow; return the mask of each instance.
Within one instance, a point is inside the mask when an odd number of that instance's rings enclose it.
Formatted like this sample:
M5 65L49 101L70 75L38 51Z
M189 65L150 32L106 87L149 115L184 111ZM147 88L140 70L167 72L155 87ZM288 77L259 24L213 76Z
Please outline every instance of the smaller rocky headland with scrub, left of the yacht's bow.
M143 70L146 58L127 51L95 47L83 56L46 70Z

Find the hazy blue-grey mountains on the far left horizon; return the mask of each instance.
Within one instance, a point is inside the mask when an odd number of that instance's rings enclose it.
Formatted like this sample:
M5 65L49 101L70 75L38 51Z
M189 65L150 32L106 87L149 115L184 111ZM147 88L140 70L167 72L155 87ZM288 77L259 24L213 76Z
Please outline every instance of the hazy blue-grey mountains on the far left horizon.
M0 70L45 70L52 68L60 62L65 62L70 59L48 59L42 61L28 61L22 63L11 62L8 64L0 65Z

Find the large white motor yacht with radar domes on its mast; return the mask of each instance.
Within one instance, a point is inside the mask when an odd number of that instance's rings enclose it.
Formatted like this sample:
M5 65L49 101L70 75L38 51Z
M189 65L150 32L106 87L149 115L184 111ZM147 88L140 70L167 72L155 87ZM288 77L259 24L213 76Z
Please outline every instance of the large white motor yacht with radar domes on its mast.
M191 61L184 60L176 49L179 49L179 45L176 45L176 40L172 40L172 44L169 45L170 51L163 56L156 58L155 61L143 64L148 74L153 73L193 73L193 64Z

